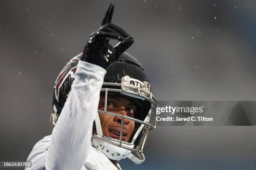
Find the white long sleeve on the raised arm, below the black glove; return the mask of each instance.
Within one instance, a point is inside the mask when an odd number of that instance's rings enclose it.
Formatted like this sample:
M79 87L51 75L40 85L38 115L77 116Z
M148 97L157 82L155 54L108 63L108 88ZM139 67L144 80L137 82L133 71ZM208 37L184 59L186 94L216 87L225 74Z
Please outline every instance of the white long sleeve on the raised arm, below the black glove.
M81 170L91 147L92 124L106 70L79 61L72 90L52 131L46 170Z

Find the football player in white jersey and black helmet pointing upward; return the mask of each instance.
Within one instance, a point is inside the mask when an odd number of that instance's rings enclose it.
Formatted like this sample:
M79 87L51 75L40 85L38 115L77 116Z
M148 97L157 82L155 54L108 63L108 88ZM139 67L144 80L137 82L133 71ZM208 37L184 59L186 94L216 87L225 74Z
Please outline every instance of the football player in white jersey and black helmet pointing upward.
M138 60L125 52L133 38L111 23L111 3L102 26L84 51L56 79L52 134L33 147L32 170L120 170L118 161L145 160L143 146L156 128L157 102ZM120 41L114 47L110 39Z

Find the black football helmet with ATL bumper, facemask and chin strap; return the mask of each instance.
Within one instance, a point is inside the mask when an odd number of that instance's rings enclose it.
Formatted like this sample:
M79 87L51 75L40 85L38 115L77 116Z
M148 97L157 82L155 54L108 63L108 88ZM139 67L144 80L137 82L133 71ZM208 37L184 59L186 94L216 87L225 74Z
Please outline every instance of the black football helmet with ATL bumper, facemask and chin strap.
M50 120L53 125L56 124L61 109L71 91L74 74L76 72L78 61L82 54L72 58L61 70L55 81L52 108ZM156 98L152 95L150 82L143 66L133 56L124 52L117 61L113 62L107 70L101 89L101 95L105 96L105 105L107 97L110 95L121 95L133 101L136 105L134 117L117 115L106 110L98 110L99 113L118 116L122 118L122 127L124 119L135 122L135 129L129 142L122 141L122 130L120 140L106 137L102 134L99 117L96 116L94 129L97 133L92 135L92 145L102 151L108 158L120 160L130 158L133 162L139 164L144 161L143 146L149 130L156 128ZM111 150L111 148L115 148ZM136 152L138 158L131 152Z

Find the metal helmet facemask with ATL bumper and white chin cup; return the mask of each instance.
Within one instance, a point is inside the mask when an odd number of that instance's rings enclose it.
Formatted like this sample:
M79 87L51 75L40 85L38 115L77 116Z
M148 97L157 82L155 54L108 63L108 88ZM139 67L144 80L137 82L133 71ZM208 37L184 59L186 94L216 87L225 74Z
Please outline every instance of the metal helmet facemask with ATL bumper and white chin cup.
M140 84L138 83L138 85L134 85L134 83L131 83L130 85L131 81L136 81ZM98 150L102 151L108 158L112 160L120 160L128 157L136 163L142 163L145 159L142 152L148 131L154 130L156 127L155 110L157 104L154 96L152 96L150 92L149 83L140 82L139 80L125 76L122 78L122 82L120 84L109 82L103 83L101 89L101 95L102 94L105 95L105 106L104 110L98 110L98 113L119 117L121 122L120 135L118 134L118 136L120 137L119 139L116 139L117 136L115 136L115 138L104 136L102 134L100 116L97 114L95 117L97 133L92 135L92 145ZM134 117L109 112L107 109L108 96L115 95L120 95L133 101L133 103L136 105ZM123 141L125 120L129 120L135 125L133 133L128 141ZM111 149L109 149L109 145L112 145ZM139 159L130 154L131 152L137 153Z

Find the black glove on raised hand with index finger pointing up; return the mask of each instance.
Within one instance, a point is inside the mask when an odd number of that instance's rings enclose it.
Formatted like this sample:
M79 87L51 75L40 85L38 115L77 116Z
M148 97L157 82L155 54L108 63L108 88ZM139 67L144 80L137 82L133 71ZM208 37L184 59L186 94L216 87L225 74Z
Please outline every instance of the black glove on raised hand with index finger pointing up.
M133 38L127 32L110 23L113 11L114 4L111 3L102 20L102 26L90 35L81 57L81 60L105 69L133 44ZM110 38L120 42L113 47L109 44Z

